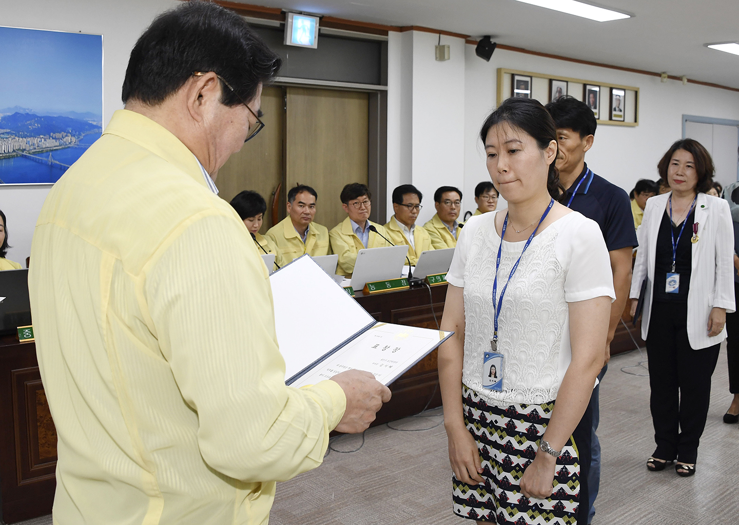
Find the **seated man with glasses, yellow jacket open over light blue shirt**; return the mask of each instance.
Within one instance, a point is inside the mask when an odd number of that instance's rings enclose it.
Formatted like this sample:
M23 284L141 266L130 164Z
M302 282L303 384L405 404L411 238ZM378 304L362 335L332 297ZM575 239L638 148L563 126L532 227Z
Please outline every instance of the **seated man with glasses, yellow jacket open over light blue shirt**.
M380 235L369 231L369 226L375 226L377 231L389 238L384 226L369 220L369 212L372 211L371 198L372 194L364 184L347 184L341 190L341 208L347 212L348 217L328 232L331 250L338 255L336 273L339 275L352 276L357 253L362 248L390 245Z

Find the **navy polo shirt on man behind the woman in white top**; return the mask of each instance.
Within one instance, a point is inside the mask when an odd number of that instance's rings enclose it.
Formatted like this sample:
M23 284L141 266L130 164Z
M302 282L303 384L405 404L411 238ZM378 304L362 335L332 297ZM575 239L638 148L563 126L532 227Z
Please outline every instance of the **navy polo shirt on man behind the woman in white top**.
M576 188L577 193L573 197L572 193ZM598 223L608 251L638 246L628 194L619 186L588 170L588 164L583 166L582 173L559 202L567 206L571 199L570 209L579 211Z

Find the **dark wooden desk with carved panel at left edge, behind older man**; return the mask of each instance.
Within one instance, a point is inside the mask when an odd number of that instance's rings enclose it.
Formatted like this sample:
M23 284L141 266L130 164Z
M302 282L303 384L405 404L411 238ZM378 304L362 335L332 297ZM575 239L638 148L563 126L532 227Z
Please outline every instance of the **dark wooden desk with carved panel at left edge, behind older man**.
M0 337L0 523L50 514L56 430L33 342Z

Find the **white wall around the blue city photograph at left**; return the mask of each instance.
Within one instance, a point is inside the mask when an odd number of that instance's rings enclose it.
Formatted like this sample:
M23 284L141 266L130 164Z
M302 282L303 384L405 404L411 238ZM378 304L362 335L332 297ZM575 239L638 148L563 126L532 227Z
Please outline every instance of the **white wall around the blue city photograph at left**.
M129 53L139 35L158 13L179 5L177 0L24 0L4 1L2 24L11 27L72 31L103 35L103 124L123 107L120 87ZM74 72L69 72L73 75ZM25 266L31 251L36 217L51 186L0 186L0 209L7 217L10 248L7 257Z

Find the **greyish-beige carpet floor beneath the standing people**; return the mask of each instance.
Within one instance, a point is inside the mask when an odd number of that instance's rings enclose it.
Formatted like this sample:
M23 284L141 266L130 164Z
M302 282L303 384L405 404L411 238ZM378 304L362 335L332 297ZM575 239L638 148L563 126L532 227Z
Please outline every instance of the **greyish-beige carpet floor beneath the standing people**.
M713 376L692 478L679 478L672 469L650 473L644 466L654 448L649 378L622 371L646 374L639 361L646 355L615 356L602 383L602 481L593 525L739 524L739 424L721 421L731 400L726 351L721 350ZM429 410L424 417L390 424L406 432L387 425L372 428L364 444L362 436L333 439L321 467L278 484L270 524L470 524L452 515L440 414L440 409ZM50 517L23 522L50 524Z

